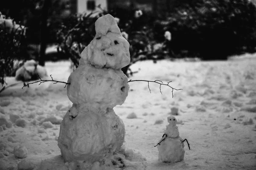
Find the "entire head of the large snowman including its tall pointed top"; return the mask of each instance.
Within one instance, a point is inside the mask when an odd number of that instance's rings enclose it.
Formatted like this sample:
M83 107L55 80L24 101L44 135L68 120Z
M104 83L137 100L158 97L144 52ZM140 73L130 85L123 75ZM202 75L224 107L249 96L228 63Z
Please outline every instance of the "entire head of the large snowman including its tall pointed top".
M80 65L121 69L130 63L129 42L122 37L116 20L110 14L95 23L96 35L82 51Z

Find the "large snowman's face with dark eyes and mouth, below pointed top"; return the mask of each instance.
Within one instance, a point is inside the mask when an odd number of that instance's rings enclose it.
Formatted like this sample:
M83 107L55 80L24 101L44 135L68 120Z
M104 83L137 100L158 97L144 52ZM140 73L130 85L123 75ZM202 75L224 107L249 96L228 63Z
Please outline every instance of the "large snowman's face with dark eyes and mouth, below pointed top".
M90 48L92 65L120 69L130 63L129 42L120 34L110 31L105 36L96 34Z

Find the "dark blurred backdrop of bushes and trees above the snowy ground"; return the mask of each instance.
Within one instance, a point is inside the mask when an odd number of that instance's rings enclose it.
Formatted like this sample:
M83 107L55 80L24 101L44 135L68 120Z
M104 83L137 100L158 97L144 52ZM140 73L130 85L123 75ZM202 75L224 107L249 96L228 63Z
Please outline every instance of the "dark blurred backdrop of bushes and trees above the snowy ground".
M151 59L227 60L256 52L256 0L7 0L0 2L0 82L26 60L69 59L111 14L130 43L131 63ZM17 62L18 61L18 62Z

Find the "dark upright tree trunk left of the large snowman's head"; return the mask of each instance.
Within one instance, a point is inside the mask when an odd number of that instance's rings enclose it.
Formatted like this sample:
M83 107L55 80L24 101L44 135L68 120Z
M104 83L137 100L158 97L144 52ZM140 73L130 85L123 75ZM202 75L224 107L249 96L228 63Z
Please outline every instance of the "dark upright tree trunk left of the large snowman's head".
M45 51L47 48L47 19L48 19L48 9L50 8L51 0L44 0L44 6L42 8L41 15L41 42L40 42L40 55L39 55L39 65L44 66L45 64Z

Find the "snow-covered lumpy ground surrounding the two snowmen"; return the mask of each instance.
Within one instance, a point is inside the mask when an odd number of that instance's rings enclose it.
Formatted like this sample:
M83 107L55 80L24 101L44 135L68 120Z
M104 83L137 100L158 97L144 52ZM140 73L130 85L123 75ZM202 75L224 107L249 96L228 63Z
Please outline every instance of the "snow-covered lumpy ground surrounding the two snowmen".
M46 63L47 73L64 82L69 67L67 61ZM172 98L167 86L161 87L161 94L156 83L149 84L151 93L147 82L129 83L125 103L114 111L125 123L125 147L140 151L146 161L123 170L256 170L256 57L215 62L142 61L131 68L140 70L128 79L172 81L169 85L183 90L174 91ZM15 83L12 77L6 81ZM17 170L20 161L37 170L41 160L61 154L57 145L60 122L72 105L65 85L22 86L0 94L0 123L12 121L12 127L0 128L0 170ZM191 148L184 143L184 161L173 164L158 161L154 147L163 136L172 108L178 109L175 117L180 137L187 139ZM23 154L15 148L20 145L28 151L24 159L15 157L15 152Z

